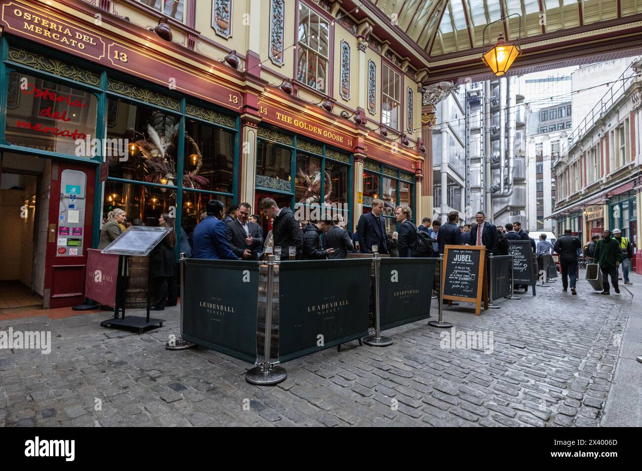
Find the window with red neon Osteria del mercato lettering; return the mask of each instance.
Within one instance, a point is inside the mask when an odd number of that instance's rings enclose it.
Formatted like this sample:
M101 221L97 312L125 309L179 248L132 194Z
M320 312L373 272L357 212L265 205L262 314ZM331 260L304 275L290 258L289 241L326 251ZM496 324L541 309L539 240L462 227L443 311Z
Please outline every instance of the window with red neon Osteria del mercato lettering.
M89 158L96 153L89 145L96 137L96 95L25 73L10 73L8 82L6 141L78 157ZM88 145L79 148L76 139ZM122 153L126 155L124 149Z

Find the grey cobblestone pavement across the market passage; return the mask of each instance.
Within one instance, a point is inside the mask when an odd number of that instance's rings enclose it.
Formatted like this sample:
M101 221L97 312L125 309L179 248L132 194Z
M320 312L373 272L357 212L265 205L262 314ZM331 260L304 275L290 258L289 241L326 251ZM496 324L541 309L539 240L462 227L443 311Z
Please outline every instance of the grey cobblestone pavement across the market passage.
M53 340L49 355L0 350L0 425L599 425L632 297L578 289L557 282L481 316L447 309L456 331L492 332L490 354L440 348L449 331L418 321L386 331L391 347L290 361L286 381L261 388L242 361L165 350L177 308L142 335L100 327L108 313L0 321Z

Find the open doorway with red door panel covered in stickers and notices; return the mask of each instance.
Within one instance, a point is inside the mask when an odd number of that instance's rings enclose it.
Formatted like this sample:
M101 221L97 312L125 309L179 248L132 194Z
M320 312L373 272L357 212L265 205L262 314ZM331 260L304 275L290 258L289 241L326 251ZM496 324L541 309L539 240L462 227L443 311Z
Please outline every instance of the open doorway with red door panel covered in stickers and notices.
M3 153L0 309L83 302L95 175L92 166Z

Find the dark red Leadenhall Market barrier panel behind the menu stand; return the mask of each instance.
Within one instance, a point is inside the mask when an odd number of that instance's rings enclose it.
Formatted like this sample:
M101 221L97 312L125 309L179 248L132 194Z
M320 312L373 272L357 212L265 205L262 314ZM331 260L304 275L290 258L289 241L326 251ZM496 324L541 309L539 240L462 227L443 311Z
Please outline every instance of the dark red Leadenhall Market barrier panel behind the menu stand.
M98 304L114 307L117 275L118 255L101 253L94 248L87 250L87 276L85 277L87 298Z

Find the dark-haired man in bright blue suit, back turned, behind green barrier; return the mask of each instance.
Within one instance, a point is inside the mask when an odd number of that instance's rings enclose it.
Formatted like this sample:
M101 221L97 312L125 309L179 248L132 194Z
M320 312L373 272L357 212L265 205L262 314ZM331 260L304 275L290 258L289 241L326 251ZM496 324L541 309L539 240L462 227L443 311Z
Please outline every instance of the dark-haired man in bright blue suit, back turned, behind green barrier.
M194 229L194 258L214 260L238 260L227 240L227 226L219 218L223 216L223 202L207 201L207 216Z

